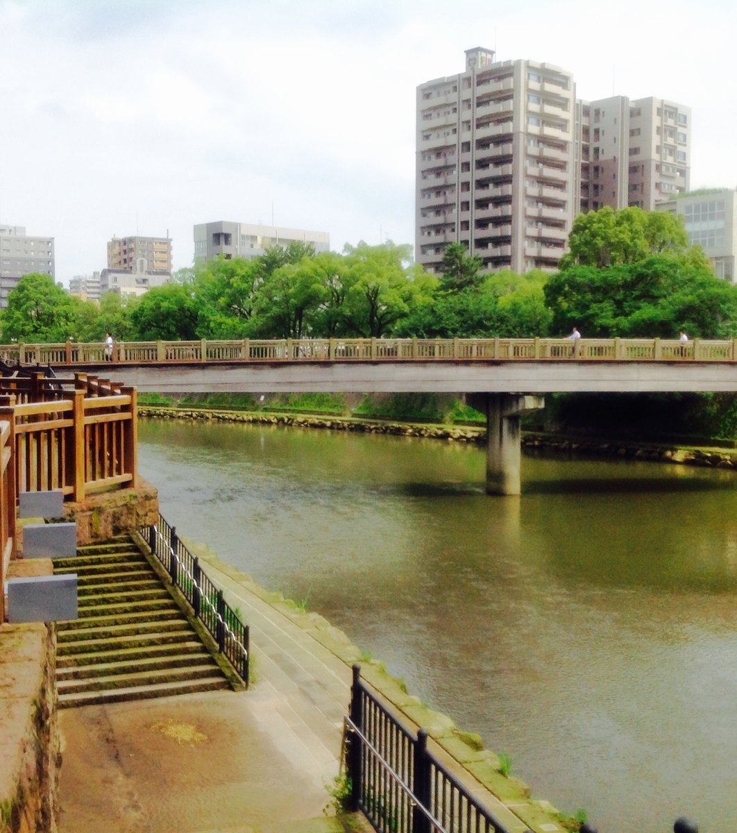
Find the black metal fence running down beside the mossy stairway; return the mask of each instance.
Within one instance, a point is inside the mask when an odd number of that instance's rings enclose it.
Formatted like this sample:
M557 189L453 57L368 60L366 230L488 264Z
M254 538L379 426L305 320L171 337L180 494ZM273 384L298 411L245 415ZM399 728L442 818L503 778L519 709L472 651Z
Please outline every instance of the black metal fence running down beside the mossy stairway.
M176 527L170 526L161 515L156 526L144 526L142 536L148 541L152 553L157 556L187 601L197 619L207 628L223 656L236 669L238 676L248 685L249 632L248 626L238 618L202 570L199 559L193 556L177 536Z

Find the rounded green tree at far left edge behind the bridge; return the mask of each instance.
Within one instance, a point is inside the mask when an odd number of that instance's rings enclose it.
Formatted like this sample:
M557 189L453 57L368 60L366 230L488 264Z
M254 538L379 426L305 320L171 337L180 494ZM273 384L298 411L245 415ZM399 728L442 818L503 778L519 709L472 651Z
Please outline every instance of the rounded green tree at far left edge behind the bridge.
M23 275L2 311L4 342L66 342L76 337L77 304L49 275Z

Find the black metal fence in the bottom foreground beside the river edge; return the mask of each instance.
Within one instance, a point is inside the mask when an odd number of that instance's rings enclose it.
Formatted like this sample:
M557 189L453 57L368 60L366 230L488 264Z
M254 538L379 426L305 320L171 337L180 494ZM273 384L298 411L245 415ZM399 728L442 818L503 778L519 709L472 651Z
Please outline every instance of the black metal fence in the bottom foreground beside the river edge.
M415 733L393 715L353 666L347 772L351 809L379 833L509 833Z

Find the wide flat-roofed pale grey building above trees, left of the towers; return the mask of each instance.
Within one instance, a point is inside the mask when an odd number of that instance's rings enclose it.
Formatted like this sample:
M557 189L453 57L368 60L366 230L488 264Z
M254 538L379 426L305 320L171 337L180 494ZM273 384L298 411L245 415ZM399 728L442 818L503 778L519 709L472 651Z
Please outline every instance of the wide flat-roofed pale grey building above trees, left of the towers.
M309 243L316 254L330 251L328 232L304 228L259 226L246 222L203 222L194 227L195 260L208 261L215 257L243 257L252 260L271 247L286 248L290 243Z

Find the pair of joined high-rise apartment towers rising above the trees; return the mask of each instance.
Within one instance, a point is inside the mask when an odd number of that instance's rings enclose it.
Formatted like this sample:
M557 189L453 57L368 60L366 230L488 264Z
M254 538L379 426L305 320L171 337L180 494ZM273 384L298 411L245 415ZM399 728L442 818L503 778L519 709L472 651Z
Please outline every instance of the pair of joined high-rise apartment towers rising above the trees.
M555 269L574 217L653 210L689 186L690 110L656 98L583 102L570 72L466 50L466 70L417 87L416 261L451 242L486 271Z

